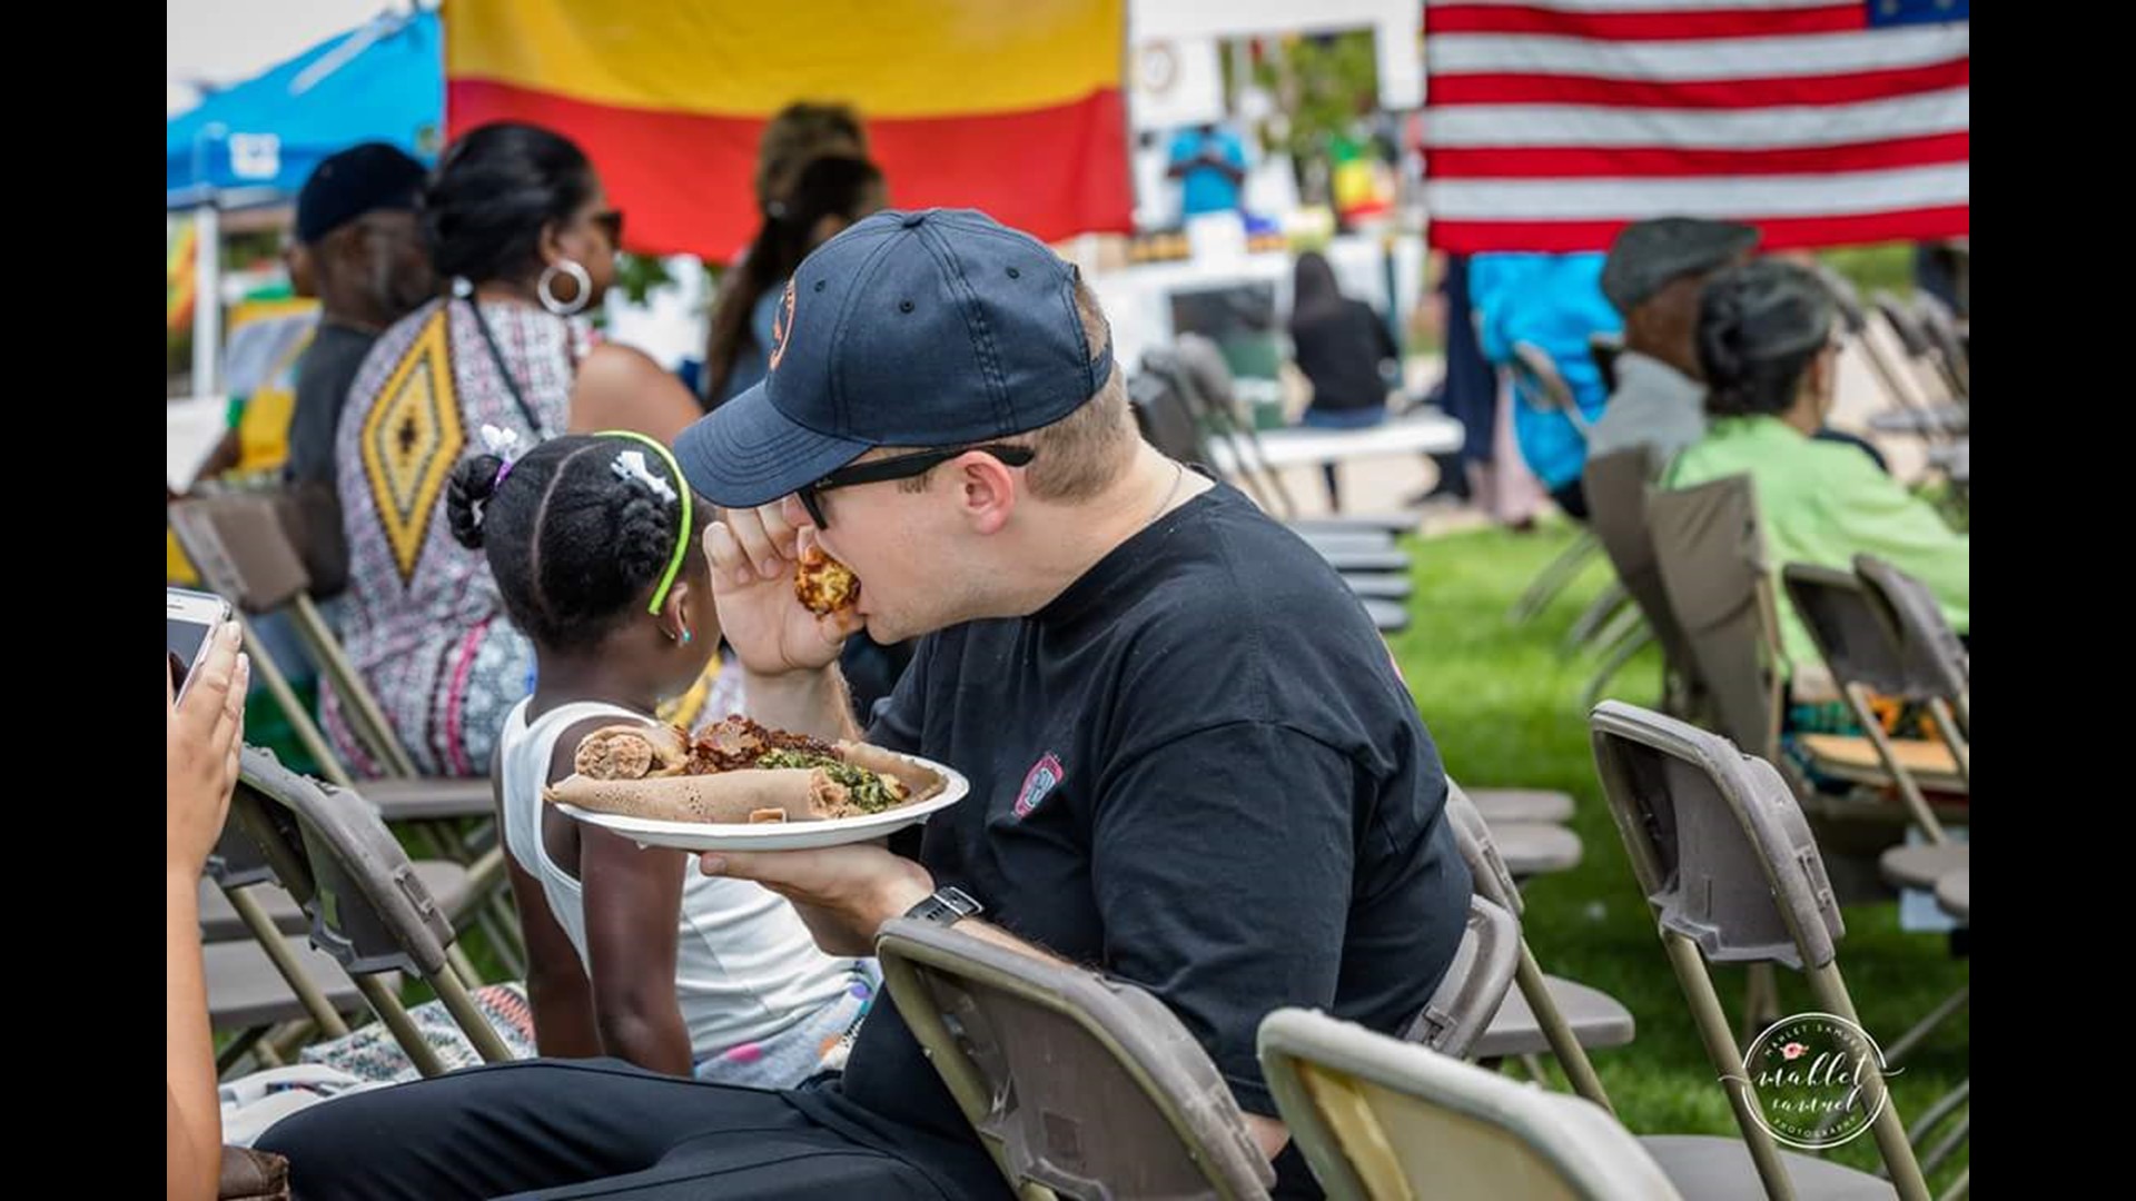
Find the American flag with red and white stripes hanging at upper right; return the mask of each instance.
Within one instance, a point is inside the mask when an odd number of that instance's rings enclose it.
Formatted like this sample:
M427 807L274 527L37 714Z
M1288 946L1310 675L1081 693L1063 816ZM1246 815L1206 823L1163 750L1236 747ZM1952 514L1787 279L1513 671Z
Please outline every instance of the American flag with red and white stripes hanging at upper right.
M1764 248L1969 229L1965 0L1425 0L1425 207L1452 252L1651 216Z

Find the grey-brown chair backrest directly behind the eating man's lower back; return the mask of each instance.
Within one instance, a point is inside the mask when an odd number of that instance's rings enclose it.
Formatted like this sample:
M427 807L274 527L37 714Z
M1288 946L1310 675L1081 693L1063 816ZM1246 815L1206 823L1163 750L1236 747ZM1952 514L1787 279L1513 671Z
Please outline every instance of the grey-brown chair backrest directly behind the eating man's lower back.
M1224 1077L1147 992L908 919L876 953L1019 1192L1258 1199L1275 1184Z

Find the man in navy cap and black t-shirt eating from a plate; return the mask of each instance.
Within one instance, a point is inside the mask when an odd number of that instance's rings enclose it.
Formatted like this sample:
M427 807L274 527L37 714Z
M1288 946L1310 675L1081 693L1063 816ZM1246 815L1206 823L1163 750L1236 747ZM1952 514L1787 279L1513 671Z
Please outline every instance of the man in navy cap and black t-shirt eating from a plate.
M867 737L972 793L891 848L701 868L784 893L833 953L869 953L906 915L1147 989L1228 1081L1277 1195L1318 1195L1254 1054L1260 1019L1299 1004L1405 1030L1472 887L1386 643L1312 547L1136 436L1096 297L1030 235L876 214L801 263L775 329L767 378L675 447L726 506L705 545L750 716L859 737L839 643L916 635ZM859 575L852 609L795 600L810 547ZM837 1083L513 1064L337 1098L258 1145L290 1158L299 1197L626 1173L598 1195L1010 1197L889 996Z

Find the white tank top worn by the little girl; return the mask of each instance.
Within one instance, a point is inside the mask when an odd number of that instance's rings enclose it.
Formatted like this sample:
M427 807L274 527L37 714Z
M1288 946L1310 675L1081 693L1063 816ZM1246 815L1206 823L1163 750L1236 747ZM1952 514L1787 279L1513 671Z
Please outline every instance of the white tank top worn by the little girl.
M564 731L587 718L643 722L645 716L575 701L528 724L530 703L519 701L504 720L504 848L528 876L540 880L549 913L570 936L579 966L592 977L583 893L579 880L549 859L540 836L540 789ZM707 876L694 861L686 872L675 932L675 998L681 1002L684 1026L690 1028L694 1058L771 1039L846 994L854 960L818 951L801 915L784 898L748 880Z

